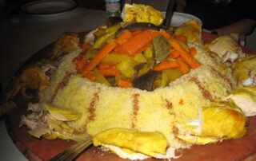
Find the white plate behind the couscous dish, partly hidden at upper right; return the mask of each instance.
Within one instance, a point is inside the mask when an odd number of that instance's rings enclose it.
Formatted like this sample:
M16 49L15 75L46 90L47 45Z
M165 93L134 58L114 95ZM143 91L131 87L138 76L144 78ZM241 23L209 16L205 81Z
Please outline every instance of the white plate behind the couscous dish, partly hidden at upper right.
M162 14L166 15L166 12L162 12ZM188 22L191 19L196 19L202 23L201 19L195 17L194 15L174 12L173 17L171 18L170 26L181 26L183 23Z

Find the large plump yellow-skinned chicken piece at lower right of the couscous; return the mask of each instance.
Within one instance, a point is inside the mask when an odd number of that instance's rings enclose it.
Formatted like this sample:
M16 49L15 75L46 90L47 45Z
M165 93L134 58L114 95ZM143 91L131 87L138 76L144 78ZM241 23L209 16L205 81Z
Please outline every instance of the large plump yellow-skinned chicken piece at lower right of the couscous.
M246 116L231 101L222 101L198 112L198 120L178 124L178 138L194 144L238 139L246 134Z

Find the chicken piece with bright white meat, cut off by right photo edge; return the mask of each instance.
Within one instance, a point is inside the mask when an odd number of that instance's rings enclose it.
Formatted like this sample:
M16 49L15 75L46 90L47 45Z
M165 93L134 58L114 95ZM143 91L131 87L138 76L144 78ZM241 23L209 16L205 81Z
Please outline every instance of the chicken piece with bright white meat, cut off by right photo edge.
M246 116L256 115L256 86L239 87L225 100L231 99Z

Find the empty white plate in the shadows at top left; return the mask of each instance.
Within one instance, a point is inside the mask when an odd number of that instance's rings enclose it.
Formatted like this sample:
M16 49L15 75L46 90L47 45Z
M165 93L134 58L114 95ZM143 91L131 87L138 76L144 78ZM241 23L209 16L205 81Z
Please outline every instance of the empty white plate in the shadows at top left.
M26 3L21 10L26 14L53 16L73 10L76 6L78 4L73 0L38 0Z

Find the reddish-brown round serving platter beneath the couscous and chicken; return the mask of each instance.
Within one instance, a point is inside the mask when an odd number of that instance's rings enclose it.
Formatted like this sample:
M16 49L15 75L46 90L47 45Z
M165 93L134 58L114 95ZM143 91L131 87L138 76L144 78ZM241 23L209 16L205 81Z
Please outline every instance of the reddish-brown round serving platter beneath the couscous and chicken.
M86 33L79 33L83 37ZM202 33L202 39L207 43L216 38L215 35L210 33ZM35 53L22 67L29 65L42 58L49 57L54 44L47 45L43 49ZM245 53L250 53L249 49L243 48ZM21 69L22 69L21 67ZM6 128L9 132L14 144L18 147L22 154L30 160L49 160L54 155L57 155L65 148L70 147L75 142L62 139L36 139L27 132L28 128L23 126L19 128L18 124L20 116L26 113L26 107L29 102L37 102L38 100L28 100L20 95L14 97L14 102L17 107L6 113L5 121ZM241 139L224 140L222 143L212 143L203 146L193 146L190 149L182 149L178 151L177 155L182 155L178 159L171 159L173 161L194 161L194 160L256 160L256 116L249 117L247 133ZM124 161L117 155L108 151L102 151L98 147L90 147L82 155L78 156L76 160L86 161ZM153 161L159 159L146 159L146 161Z

